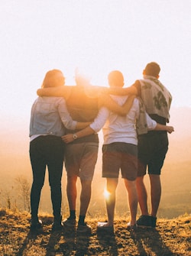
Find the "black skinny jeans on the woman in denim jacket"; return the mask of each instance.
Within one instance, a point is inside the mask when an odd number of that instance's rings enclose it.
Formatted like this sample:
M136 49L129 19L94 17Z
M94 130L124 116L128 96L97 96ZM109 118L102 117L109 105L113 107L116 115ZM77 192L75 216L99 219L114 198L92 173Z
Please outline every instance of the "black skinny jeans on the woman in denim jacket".
M64 144L60 137L40 136L30 143L30 158L33 171L31 187L31 219L37 220L40 193L44 186L46 167L49 175L54 219L61 215L61 178L63 174Z

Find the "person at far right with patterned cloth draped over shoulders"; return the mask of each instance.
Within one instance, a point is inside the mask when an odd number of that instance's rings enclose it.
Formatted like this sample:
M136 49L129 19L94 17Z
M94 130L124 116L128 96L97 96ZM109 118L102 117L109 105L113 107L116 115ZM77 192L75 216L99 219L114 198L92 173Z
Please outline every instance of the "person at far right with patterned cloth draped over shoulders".
M159 80L160 66L156 62L147 63L143 71L143 79L125 88L125 93L134 93L141 97L146 112L161 125L170 119L172 96ZM138 201L141 216L138 226L155 228L157 211L160 205L161 183L160 173L168 151L167 131L148 131L138 136L138 178L136 180ZM144 185L146 170L151 183L151 212L147 206L147 188Z

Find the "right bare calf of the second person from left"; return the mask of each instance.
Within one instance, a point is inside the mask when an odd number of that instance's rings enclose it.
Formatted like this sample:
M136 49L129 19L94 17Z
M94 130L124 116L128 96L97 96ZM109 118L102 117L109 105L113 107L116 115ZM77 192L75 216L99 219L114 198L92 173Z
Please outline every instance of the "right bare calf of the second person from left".
M86 215L92 193L92 180L81 180L82 190L80 195L79 215Z

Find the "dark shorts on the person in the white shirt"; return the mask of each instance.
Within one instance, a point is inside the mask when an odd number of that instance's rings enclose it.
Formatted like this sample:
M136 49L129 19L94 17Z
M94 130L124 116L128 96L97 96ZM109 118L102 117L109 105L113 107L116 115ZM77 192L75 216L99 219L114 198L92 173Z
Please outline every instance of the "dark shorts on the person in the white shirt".
M102 147L102 177L135 180L138 172L138 147L134 144L115 142Z

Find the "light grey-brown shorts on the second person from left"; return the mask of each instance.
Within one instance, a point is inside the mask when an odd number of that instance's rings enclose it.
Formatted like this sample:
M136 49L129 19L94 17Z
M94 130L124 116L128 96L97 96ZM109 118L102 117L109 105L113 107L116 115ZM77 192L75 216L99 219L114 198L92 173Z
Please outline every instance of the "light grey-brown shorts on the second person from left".
M68 177L79 176L81 180L92 180L98 158L99 144L83 142L66 144L65 167Z

